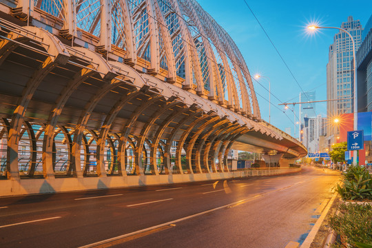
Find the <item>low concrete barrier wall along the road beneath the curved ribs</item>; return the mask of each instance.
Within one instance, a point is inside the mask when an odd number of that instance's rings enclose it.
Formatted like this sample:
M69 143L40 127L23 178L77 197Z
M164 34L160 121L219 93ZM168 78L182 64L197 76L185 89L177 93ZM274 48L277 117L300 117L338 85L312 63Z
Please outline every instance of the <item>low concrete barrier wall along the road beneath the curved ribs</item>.
M107 176L86 178L0 180L0 196L20 196L56 192L73 192L90 189L110 189L145 185L165 185L204 180L269 176L299 172L301 168L249 169L235 172L205 174L173 174L149 176Z

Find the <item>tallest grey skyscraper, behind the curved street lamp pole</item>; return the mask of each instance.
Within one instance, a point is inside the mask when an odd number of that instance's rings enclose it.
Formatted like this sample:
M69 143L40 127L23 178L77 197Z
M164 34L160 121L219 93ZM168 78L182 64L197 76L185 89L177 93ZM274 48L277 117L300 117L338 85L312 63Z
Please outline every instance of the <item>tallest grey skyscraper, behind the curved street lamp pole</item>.
M355 42L358 50L362 35L362 25L359 20L348 17L341 28L347 30ZM333 118L340 114L353 112L353 45L350 37L341 30L333 37L333 44L329 46L329 62L327 64L327 100L347 99L327 102L327 116ZM329 125L327 134L329 142L334 143L335 130Z

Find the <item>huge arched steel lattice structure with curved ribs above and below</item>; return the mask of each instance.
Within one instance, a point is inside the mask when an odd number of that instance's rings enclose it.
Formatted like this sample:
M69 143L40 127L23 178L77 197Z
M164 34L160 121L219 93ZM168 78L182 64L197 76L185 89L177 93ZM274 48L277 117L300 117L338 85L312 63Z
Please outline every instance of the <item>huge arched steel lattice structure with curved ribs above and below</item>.
M0 170L8 179L228 172L227 152L242 134L282 139L258 122L234 41L194 0L6 5Z

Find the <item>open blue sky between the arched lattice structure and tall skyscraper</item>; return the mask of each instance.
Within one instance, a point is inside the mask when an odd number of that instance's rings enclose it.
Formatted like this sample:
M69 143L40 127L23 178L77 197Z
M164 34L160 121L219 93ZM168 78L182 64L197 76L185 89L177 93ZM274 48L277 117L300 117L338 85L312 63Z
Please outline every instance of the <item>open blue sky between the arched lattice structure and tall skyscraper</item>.
M259 73L271 80L271 93L282 102L298 102L300 87L291 76L285 63L271 45L265 32L251 14L244 0L197 0L211 17L220 24L235 41L249 68L251 76ZM317 30L316 34L307 32L309 23L340 27L347 17L366 24L372 14L372 0L358 1L268 1L246 0L254 14L265 28L267 34L282 55L304 91L316 90L316 100L327 99L327 63L329 45L337 30ZM269 89L266 79L260 83ZM269 92L254 82L255 90L263 96L258 97L261 116L269 121ZM271 124L285 130L291 127L293 136L293 112L282 112L283 106L271 95ZM302 99L303 100L303 99ZM327 103L316 103L316 114L327 116ZM291 107L292 108L292 107ZM298 118L298 105L295 107ZM298 121L298 119L297 119ZM298 136L298 127L296 127Z

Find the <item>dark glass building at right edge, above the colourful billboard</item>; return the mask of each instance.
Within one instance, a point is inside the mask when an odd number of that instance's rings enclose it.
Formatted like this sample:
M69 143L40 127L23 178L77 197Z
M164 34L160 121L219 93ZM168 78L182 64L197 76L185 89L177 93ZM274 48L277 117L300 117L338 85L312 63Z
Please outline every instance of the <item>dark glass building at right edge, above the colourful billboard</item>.
M372 15L362 32L356 52L358 112L372 111Z

